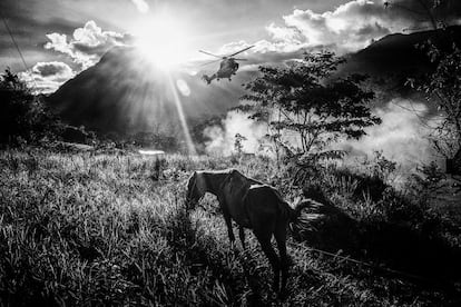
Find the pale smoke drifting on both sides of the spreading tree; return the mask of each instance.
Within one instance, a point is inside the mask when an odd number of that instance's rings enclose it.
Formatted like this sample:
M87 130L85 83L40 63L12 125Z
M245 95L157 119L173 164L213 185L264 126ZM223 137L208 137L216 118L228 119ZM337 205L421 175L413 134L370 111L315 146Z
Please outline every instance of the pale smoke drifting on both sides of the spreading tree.
M403 169L414 169L420 164L434 160L434 151L428 139L430 126L435 122L429 118L424 103L408 99L393 99L384 107L374 109L382 123L366 128L366 136L360 140L343 140L334 145L335 149L349 151L349 157L373 157L382 151L384 157L396 161ZM247 140L242 142L244 152L259 152L267 127L247 118L247 115L230 111L223 120L223 127L208 127L204 135L210 139L206 151L212 155L228 156L234 152L235 135L241 133ZM294 138L284 138L293 142ZM293 146L297 146L293 143Z

